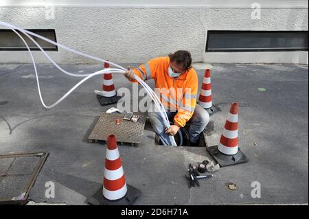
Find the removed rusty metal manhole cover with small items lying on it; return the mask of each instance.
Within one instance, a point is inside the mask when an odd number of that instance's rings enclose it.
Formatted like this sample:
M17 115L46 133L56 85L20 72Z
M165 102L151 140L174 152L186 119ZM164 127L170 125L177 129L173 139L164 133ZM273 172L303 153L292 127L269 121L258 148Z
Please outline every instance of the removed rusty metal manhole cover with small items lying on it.
M116 136L117 142L138 146L143 137L146 116L139 114L137 122L126 121L123 117L123 113L101 113L97 124L88 137L89 141L106 141L108 135L113 134ZM116 124L117 119L120 120L119 124Z

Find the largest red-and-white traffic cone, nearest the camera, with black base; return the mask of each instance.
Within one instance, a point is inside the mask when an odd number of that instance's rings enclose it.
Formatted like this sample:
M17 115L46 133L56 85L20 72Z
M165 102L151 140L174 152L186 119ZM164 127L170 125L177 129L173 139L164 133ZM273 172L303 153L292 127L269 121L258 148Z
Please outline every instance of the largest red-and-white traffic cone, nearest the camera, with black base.
M116 137L115 135L109 135L107 138L103 186L88 199L88 202L92 205L132 205L138 196L138 189L126 185Z

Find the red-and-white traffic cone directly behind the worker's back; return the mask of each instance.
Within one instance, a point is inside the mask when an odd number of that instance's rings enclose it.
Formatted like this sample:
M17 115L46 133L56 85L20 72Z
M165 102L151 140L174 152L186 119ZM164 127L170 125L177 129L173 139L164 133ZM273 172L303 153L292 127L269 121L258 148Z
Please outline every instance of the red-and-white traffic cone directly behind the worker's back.
M210 69L205 70L201 93L198 97L198 104L205 108L209 115L213 115L220 111L218 106L212 104Z

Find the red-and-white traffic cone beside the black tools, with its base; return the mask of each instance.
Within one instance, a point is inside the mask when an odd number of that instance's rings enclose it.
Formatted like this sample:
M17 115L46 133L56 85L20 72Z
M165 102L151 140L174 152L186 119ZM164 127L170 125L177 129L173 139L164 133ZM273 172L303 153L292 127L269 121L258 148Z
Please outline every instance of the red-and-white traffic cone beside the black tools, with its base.
M247 162L238 148L238 103L233 102L218 146L207 148L221 167Z

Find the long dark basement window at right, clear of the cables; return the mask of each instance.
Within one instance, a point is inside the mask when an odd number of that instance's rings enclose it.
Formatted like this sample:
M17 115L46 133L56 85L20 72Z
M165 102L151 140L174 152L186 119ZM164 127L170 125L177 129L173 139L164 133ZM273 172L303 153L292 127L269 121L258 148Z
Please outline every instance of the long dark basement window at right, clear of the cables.
M206 52L308 51L308 31L208 31Z

